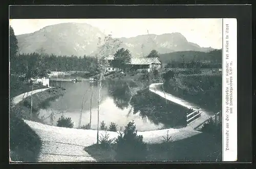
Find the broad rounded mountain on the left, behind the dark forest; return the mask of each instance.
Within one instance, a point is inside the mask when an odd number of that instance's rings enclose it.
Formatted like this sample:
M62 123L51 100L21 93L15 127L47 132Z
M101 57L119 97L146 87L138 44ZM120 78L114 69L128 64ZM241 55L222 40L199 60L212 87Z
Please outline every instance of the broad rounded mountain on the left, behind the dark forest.
M71 56L95 52L98 38L104 38L105 35L86 23L60 23L16 37L19 53L44 50L46 53Z

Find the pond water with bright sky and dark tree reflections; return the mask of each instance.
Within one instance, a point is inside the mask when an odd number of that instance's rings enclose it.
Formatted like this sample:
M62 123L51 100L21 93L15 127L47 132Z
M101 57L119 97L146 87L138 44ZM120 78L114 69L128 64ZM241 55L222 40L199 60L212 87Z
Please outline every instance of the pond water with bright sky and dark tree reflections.
M90 122L90 109L92 111L91 129L97 129L97 102L99 87L97 83L89 81L69 82L50 81L50 86L63 87L65 95L50 102L47 109L39 110L39 118L50 125L56 125L61 115L70 117L74 127L78 127L80 112L81 126ZM135 122L138 131L149 131L164 128L162 123L153 123L146 116L140 113L133 113L133 106L130 104L132 95L138 87L123 81L105 81L101 89L99 105L99 121L104 121L109 127L114 122L124 128L129 122ZM83 101L83 104L82 104ZM54 114L54 115L53 115ZM53 115L53 116L50 116Z

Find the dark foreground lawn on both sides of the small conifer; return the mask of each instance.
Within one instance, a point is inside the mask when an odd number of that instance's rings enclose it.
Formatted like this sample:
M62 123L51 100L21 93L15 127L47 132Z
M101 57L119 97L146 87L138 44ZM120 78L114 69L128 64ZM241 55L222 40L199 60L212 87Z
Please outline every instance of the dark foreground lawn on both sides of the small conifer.
M115 145L103 149L95 144L84 150L99 162L116 161ZM221 161L221 150L221 142L212 134L201 133L175 142L147 144L146 161L215 162Z

